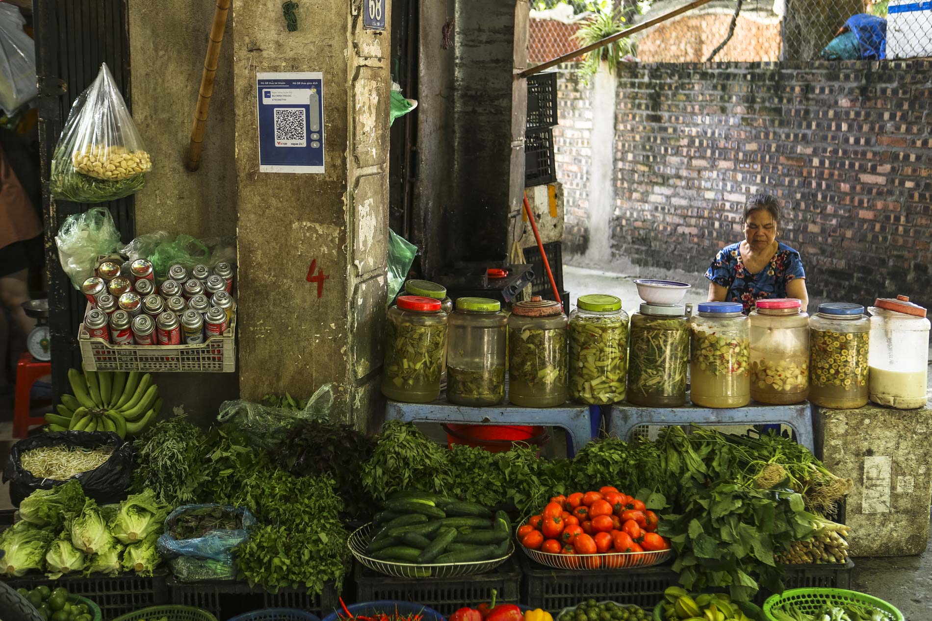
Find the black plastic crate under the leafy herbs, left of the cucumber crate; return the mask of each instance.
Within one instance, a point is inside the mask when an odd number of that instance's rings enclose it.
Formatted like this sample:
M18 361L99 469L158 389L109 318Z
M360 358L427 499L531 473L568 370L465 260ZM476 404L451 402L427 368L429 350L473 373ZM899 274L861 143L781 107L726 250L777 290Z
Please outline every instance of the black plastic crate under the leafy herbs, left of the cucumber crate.
M238 580L181 582L169 578L168 588L171 603L202 608L218 619L260 608L296 608L323 618L339 607L339 593L333 583L327 583L320 595L308 595L303 588L280 588L278 593L269 593Z

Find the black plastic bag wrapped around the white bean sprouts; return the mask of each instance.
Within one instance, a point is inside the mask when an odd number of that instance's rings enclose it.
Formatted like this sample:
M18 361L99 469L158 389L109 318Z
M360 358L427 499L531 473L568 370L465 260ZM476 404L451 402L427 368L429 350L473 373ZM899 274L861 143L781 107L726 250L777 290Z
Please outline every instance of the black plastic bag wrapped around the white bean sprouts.
M73 479L81 483L84 493L96 500L99 505L110 505L126 499L136 457L132 442L120 439L117 434L110 431L53 431L21 439L13 445L7 465L3 470L3 481L5 483L9 481L9 498L13 506L20 506L22 499L35 490L50 490L56 485L67 482L34 477L20 463L23 452L62 444L85 449L112 446L114 452L110 455L110 459L103 463L103 466L81 472Z

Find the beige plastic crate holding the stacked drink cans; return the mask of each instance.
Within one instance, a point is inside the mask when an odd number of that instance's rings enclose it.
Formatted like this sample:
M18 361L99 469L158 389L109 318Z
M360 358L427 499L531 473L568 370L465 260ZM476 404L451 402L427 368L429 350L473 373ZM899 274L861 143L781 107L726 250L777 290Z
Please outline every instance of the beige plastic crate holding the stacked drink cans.
M112 345L90 338L82 323L77 331L87 371L236 371L236 312L223 336L196 345Z

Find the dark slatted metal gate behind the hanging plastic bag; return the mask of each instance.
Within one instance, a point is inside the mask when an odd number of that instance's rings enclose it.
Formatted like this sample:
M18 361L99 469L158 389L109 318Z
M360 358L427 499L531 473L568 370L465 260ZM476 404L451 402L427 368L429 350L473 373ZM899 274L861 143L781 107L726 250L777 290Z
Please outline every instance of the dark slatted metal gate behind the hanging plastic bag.
M80 364L77 325L85 299L62 272L55 235L64 219L94 205L53 201L48 196L51 156L71 104L97 76L102 62L114 74L130 105L130 41L126 0L35 0L35 57L39 82L39 145L45 222L52 387L69 392L67 372ZM124 242L134 235L132 196L100 203L113 214Z

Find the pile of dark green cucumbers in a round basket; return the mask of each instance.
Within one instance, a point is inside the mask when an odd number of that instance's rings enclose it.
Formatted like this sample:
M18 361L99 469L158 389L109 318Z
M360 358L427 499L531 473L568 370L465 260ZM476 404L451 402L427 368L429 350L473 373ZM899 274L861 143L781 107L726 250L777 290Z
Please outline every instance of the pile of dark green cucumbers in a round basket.
M377 560L447 564L501 559L511 547L504 511L433 493L392 493L374 520L366 554Z

